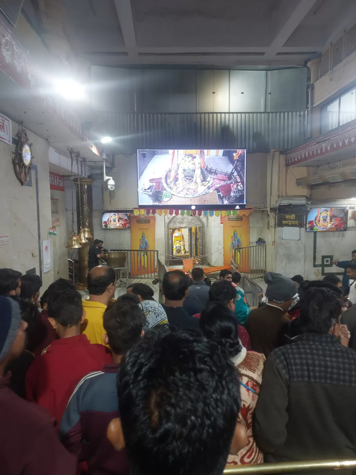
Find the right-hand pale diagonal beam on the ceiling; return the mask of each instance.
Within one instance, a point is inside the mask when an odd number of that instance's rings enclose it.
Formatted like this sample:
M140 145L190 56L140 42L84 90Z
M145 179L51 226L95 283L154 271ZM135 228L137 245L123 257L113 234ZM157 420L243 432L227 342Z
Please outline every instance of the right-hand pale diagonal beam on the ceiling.
M300 0L297 6L289 14L288 18L282 22L281 28L274 37L271 46L268 48L266 56L273 57L280 52L281 47L298 27L301 20L305 17L311 7L317 0Z

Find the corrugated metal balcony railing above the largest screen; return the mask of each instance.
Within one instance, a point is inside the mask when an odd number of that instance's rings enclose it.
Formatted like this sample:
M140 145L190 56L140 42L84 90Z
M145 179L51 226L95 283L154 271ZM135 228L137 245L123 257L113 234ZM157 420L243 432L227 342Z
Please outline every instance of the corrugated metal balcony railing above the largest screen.
M119 151L225 148L247 152L290 149L306 140L307 111L119 113L97 112L106 130L120 136Z

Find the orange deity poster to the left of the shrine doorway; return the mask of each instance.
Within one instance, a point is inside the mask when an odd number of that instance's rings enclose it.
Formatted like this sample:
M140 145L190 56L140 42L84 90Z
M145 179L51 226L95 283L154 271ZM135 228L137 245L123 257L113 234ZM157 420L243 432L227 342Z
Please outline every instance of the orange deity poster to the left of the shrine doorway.
M132 276L147 276L155 271L155 216L131 215L131 271Z

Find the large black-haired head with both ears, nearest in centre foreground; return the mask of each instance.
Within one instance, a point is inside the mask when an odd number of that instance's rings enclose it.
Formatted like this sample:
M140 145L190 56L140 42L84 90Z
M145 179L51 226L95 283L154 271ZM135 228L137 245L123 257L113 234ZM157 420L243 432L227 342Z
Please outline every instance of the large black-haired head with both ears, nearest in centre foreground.
M151 330L120 365L117 390L121 418L107 435L132 474L220 475L247 444L237 372L197 333Z

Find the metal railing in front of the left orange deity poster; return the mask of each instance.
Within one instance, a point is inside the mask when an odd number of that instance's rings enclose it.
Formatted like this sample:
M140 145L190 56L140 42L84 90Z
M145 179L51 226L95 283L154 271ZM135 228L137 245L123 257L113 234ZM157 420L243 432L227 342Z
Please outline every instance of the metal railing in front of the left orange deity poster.
M155 279L158 277L158 251L141 249L111 249L125 252L125 266L129 279Z

